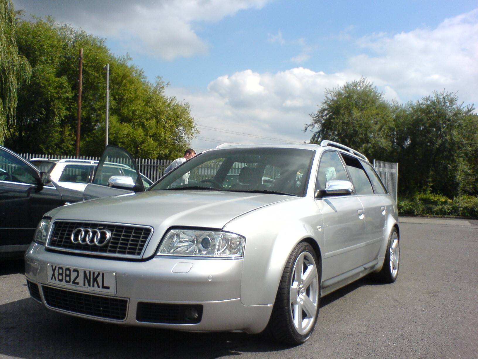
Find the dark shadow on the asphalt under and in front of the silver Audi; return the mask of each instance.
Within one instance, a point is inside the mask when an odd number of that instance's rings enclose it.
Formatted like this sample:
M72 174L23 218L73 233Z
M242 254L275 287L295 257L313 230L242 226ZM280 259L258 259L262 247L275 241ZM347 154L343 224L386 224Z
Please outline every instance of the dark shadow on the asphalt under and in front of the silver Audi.
M22 273L14 262L0 274ZM367 278L322 298L321 307L346 296ZM154 328L104 324L52 312L33 299L0 305L0 356L19 358L218 358L244 352L282 351L262 335L185 333Z

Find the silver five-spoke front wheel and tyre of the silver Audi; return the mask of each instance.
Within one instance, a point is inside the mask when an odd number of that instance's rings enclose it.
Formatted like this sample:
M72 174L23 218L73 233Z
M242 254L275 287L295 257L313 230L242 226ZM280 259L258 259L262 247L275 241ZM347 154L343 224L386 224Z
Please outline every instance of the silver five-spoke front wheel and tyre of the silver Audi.
M311 336L319 314L320 270L314 249L299 243L285 264L265 329L274 341L297 345Z

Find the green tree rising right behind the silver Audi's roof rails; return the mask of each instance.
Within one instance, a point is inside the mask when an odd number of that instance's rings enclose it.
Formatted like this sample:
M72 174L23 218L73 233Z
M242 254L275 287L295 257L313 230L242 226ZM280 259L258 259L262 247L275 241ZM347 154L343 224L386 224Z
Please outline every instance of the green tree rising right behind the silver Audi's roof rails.
M372 83L362 78L336 89L326 89L318 111L304 131L313 132L311 143L336 141L368 157L385 159L392 150L392 106Z

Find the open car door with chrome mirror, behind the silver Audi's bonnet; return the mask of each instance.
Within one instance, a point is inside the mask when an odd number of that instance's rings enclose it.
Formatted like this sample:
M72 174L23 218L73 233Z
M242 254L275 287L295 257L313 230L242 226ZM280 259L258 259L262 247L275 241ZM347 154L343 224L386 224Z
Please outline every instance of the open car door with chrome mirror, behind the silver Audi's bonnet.
M108 145L84 195L90 199L142 191L143 181L133 157L122 147Z

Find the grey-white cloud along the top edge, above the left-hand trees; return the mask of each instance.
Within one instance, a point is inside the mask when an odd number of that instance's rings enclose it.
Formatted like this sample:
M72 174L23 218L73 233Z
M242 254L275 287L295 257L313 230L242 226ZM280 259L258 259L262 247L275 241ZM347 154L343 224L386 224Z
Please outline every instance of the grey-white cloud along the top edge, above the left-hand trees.
M196 22L217 22L240 10L261 9L270 0L14 0L15 9L87 32L126 42L125 46L165 59L205 54L209 45Z

